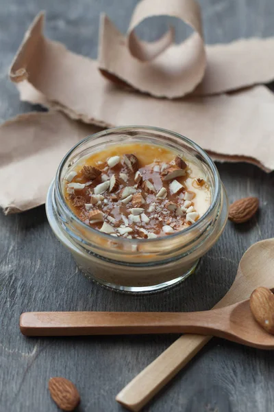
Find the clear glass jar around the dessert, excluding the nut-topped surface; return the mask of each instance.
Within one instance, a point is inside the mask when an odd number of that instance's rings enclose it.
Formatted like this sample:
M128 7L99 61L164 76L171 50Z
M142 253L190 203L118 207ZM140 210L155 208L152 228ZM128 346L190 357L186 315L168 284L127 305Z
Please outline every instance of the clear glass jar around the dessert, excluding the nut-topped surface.
M211 204L195 224L161 238L125 239L92 229L73 214L64 198L64 182L75 164L110 145L134 142L165 146L199 163L208 177ZM66 154L49 187L46 209L55 236L90 279L115 290L147 293L173 286L195 271L225 227L228 203L214 162L193 141L162 128L125 126L88 136Z

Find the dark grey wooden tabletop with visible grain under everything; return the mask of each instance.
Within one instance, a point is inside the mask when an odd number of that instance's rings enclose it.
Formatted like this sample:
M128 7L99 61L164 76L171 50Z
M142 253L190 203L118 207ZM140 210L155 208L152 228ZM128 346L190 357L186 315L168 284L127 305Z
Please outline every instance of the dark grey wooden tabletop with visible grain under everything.
M95 58L99 12L107 12L125 31L136 2L1 0L1 120L33 110L19 102L7 71L36 12L47 10L51 38ZM201 0L201 6L207 43L274 35L273 0ZM140 30L153 39L165 25L161 19L152 34L147 25ZM186 27L181 27L179 36L185 32ZM51 233L45 207L17 216L0 214L0 411L57 411L47 391L51 376L76 383L82 397L79 411L123 410L114 400L116 393L177 336L26 339L18 329L19 316L26 310L179 311L213 306L232 284L242 253L274 235L273 174L243 163L218 167L229 200L258 196L260 214L240 227L228 223L195 275L173 290L149 297L112 293L90 283ZM213 339L145 411L274 411L273 378L270 352Z

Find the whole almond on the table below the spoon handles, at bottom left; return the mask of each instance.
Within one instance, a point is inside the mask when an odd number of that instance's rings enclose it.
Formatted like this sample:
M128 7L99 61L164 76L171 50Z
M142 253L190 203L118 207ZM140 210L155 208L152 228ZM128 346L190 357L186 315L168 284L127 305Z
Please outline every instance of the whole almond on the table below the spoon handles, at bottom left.
M55 404L62 411L73 411L80 402L79 392L73 382L66 378L51 378L49 392Z

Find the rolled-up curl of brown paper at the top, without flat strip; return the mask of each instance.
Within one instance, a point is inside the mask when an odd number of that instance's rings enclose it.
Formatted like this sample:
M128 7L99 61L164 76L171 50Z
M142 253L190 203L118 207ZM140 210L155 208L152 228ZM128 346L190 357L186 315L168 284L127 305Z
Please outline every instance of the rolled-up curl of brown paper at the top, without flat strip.
M185 21L195 33L180 45L169 45L153 58L140 59L134 27L151 16L169 15ZM142 0L123 36L108 17L101 19L99 67L139 91L175 98L190 93L203 78L206 52L199 6L195 0Z

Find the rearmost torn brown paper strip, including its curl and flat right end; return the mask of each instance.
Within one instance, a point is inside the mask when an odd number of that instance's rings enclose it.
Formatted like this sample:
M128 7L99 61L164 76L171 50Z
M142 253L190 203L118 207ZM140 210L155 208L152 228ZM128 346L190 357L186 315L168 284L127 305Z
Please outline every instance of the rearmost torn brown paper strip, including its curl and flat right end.
M144 62L136 53L135 37L132 42L134 27L148 17L162 14L185 21L195 34L180 45L171 44L155 58ZM111 74L111 80L123 80L134 89L156 97L182 97L200 82L195 95L223 93L274 79L274 38L242 39L205 48L199 5L195 0L140 1L128 36L121 34L104 16L99 51L102 73Z

